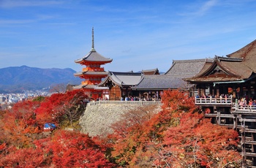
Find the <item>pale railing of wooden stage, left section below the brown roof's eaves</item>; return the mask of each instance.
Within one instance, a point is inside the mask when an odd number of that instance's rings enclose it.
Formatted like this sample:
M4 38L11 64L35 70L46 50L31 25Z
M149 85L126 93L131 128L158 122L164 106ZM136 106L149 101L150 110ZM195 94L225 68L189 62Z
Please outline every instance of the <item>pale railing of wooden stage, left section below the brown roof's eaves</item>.
M195 98L195 104L232 104L231 98Z

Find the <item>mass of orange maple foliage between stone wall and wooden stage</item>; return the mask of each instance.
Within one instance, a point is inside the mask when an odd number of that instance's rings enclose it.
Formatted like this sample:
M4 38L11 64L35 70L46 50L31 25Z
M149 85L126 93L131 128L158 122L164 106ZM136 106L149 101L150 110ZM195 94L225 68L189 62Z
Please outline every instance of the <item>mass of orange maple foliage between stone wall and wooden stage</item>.
M109 136L116 163L125 167L238 165L236 131L203 120L194 100L181 91L165 91L162 103L162 111L148 121L125 128L122 136L116 134L120 131Z

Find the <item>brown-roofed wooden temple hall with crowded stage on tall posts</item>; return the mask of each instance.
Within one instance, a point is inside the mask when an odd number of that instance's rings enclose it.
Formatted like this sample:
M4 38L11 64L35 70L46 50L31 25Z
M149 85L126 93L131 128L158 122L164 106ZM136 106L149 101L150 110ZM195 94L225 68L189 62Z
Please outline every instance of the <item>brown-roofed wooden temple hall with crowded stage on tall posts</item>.
M206 118L238 131L242 167L255 167L256 40L225 57L215 56L195 77L184 80L199 89L195 104Z

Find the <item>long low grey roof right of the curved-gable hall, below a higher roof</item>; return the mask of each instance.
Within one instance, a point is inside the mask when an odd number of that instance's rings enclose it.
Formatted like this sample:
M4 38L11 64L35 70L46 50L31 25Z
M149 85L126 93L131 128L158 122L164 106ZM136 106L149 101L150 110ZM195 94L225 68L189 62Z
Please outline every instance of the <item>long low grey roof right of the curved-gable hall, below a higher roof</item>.
M167 90L189 88L187 82L173 75L143 75L135 90Z

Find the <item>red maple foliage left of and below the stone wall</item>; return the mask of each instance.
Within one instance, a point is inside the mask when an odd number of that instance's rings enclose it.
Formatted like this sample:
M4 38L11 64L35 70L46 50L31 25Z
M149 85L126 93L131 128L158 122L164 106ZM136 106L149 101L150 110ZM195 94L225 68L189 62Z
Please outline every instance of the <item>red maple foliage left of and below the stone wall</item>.
M0 167L113 167L97 137L61 129L42 132L45 122L66 120L72 125L84 110L85 98L83 91L57 93L1 112Z

